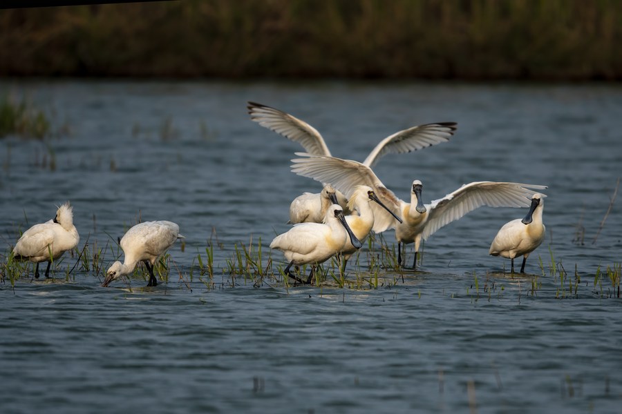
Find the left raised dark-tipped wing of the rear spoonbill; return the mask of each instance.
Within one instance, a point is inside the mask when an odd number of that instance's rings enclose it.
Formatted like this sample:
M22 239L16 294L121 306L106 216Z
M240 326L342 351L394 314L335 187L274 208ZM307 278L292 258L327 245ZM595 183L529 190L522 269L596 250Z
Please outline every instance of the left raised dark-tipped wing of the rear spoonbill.
M299 143L310 154L330 157L328 146L320 133L305 121L261 103L249 102L247 108L251 119L259 125Z

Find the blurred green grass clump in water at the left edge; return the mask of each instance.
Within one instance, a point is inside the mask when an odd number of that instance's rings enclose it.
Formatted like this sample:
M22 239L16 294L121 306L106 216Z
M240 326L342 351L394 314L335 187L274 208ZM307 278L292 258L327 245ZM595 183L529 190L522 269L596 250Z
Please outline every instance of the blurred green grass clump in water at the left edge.
M0 101L0 138L18 135L44 139L51 133L51 123L42 110L32 108L25 99L16 101L4 97Z

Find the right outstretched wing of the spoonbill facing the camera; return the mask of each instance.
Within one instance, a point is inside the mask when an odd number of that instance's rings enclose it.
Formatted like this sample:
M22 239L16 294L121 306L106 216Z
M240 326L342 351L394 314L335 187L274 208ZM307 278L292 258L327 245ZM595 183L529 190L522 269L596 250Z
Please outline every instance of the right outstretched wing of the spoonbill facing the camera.
M547 186L494 181L475 181L465 184L453 193L442 199L434 200L432 204L426 206L429 213L422 237L424 240L427 239L439 228L481 206L529 207L534 192L544 188Z

